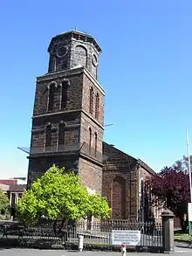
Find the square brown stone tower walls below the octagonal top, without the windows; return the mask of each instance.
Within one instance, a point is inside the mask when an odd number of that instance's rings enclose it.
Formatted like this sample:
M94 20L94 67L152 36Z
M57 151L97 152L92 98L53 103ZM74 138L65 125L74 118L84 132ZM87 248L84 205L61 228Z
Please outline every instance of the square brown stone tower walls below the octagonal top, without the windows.
M62 82L62 80L64 80L64 78L69 80L67 103L65 109L59 109L59 100L61 93L59 84ZM91 80L91 82L89 80ZM47 112L47 85L49 85L51 81L56 82L56 84L58 85L58 91L56 90L53 109ZM76 169L79 168L79 175L81 176L83 184L91 189L101 192L102 159L100 156L102 155L102 107L104 104L102 103L99 108L99 120L96 121L94 116L90 116L88 113L86 113L88 105L87 99L86 97L84 97L87 88L89 88L91 84L95 86L95 83L96 81L93 80L90 74L87 73L83 68L72 70L69 73L58 73L58 76L56 76L56 74L53 74L53 77L52 74L48 74L38 79L31 132L31 149L33 153L36 153L36 156L34 156L33 154L30 159L29 183L35 180L38 176L41 176L46 170L51 167L53 163L59 166L64 166L66 170L74 169L74 164L76 164L78 158L71 162L71 160L69 160L71 159L70 155L63 155L62 158L62 156L58 156L58 153L55 152L55 150L57 151L58 149L58 126L60 124L60 121L65 121L64 146L74 146L74 150L78 150L83 142L86 142L86 144L89 143L88 129L90 127L93 131L92 148L94 149L94 134L97 133L97 152L99 153L99 155L97 156L99 157L96 157L96 160L90 160L89 157L82 159L80 158L79 167L76 166ZM99 91L99 89L97 90ZM101 90L101 92L102 93L100 93L100 102L104 102L103 90ZM45 128L49 123L51 123L51 154L54 153L54 155L51 156L47 152L46 154L44 152L41 152L41 157L39 157L39 152L37 152L36 150L38 150L38 148L44 149L45 147Z

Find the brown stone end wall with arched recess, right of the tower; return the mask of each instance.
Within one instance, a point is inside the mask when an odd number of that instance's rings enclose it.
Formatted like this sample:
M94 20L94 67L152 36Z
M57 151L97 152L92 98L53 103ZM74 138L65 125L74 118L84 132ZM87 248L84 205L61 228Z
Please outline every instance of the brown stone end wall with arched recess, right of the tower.
M103 153L102 195L112 207L112 218L136 218L136 160L105 142Z

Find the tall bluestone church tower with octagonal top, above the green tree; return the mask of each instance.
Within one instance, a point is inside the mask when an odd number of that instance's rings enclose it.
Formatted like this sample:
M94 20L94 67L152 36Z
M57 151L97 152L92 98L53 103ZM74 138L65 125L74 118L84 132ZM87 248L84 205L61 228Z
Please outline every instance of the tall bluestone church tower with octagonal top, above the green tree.
M37 78L28 186L53 163L75 170L101 192L105 92L98 82L101 49L86 33L51 39L48 73Z

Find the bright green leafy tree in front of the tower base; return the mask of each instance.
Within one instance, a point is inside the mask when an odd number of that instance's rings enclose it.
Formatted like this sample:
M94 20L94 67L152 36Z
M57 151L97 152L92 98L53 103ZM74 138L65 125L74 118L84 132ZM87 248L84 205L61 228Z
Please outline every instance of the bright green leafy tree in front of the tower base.
M44 216L49 220L86 218L108 218L110 208L106 198L89 195L73 172L65 173L55 165L31 184L31 190L17 205L17 218L25 222L36 222Z

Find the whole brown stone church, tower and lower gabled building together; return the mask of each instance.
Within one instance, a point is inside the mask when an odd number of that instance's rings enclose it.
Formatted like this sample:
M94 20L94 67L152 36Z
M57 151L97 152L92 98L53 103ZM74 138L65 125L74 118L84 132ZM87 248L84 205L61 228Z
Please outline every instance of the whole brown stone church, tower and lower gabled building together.
M68 31L51 38L48 52L48 72L36 84L28 187L55 163L106 197L111 218L144 219L151 201L146 203L143 183L154 170L103 141L99 44L86 33Z

